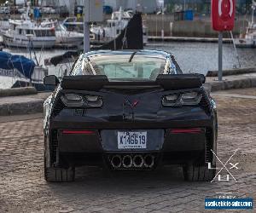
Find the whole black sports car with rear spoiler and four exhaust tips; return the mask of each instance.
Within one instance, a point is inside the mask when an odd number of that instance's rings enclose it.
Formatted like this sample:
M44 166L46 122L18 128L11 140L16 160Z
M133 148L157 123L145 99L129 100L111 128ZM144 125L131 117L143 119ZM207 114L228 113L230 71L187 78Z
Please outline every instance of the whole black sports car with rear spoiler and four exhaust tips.
M163 164L182 164L186 180L211 181L217 112L202 83L156 50L89 52L61 82L46 76L56 86L44 102L46 181L73 181L80 165Z

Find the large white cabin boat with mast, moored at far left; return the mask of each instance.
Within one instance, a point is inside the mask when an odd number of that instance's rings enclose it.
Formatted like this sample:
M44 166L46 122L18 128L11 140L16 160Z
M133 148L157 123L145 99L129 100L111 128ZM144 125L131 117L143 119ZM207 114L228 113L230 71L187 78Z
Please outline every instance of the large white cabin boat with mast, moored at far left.
M21 20L9 20L9 30L3 32L3 43L6 46L26 48L52 48L55 45L55 29L44 27L30 20L28 11Z

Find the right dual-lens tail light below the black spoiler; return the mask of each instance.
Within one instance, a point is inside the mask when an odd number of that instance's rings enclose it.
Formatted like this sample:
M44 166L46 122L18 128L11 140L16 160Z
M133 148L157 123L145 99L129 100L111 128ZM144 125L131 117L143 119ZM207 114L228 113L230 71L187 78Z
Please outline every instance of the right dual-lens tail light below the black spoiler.
M201 93L195 91L165 95L162 99L162 105L165 107L197 105L201 101L201 97Z

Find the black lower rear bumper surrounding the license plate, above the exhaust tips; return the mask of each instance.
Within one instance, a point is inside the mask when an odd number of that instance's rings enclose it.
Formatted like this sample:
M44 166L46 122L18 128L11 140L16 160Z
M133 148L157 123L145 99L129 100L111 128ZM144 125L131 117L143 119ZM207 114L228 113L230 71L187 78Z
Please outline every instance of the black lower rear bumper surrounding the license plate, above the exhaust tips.
M93 127L89 129L89 126ZM131 128L133 126L133 128ZM148 128L150 126L151 128ZM104 127L104 129L101 129ZM145 128L147 127L147 128ZM115 128L115 129L114 129ZM145 149L119 149L116 133L121 130L143 130L148 132L150 146ZM150 124L91 124L52 122L49 132L55 132L54 156L52 162L70 165L91 165L108 162L114 155L134 156L153 154L155 160L163 164L183 164L191 159L205 158L207 149L212 148L212 119L172 121ZM51 146L50 146L51 147ZM52 155L56 153L51 152Z

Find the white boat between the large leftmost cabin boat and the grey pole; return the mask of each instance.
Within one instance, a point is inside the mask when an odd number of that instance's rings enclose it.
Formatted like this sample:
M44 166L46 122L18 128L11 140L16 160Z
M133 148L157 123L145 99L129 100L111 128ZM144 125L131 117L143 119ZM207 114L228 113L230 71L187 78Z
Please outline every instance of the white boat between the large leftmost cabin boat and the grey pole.
M61 46L79 46L84 41L84 34L80 32L67 31L67 27L57 21L44 21L41 26L55 28L55 44Z

